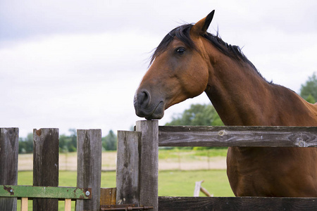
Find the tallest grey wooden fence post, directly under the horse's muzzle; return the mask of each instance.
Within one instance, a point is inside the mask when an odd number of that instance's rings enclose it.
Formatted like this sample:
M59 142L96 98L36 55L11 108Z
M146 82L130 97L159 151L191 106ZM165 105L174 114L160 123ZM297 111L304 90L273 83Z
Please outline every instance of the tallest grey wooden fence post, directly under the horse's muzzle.
M142 132L139 144L140 205L158 210L159 121L137 121L136 129Z

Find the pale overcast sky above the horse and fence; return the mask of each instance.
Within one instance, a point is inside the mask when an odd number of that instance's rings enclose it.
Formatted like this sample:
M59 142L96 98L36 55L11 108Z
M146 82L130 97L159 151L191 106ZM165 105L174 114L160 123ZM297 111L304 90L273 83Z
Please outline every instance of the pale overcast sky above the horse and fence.
M209 32L299 92L317 71L317 1L0 1L0 127L128 130L151 51L216 10ZM166 110L160 124L205 94Z

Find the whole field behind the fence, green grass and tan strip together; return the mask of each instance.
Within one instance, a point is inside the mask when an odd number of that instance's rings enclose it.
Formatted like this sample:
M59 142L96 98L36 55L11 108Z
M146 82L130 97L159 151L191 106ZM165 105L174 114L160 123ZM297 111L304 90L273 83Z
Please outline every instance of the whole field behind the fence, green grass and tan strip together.
M193 196L195 182L201 180L204 180L202 186L213 196L233 196L225 172L226 154L226 148L203 151L187 148L160 149L159 196ZM75 170L76 164L76 153L60 153L59 186L76 186L77 172L64 171L64 169ZM28 170L30 167L32 170L32 155L19 155L19 169ZM116 169L115 151L102 154L102 167L105 170ZM18 185L32 185L32 174L32 171L18 172ZM116 187L116 172L102 172L101 187ZM59 202L58 210L63 210L63 203L63 201ZM18 202L18 210L20 210L20 202ZM32 201L29 201L29 210L32 210ZM73 202L73 210L75 210L75 202Z

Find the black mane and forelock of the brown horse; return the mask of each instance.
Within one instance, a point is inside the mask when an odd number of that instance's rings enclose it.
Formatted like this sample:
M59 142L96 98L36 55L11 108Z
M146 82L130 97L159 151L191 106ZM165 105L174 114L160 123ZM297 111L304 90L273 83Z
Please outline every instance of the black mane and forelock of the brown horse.
M194 44L194 41L190 38L189 31L192 28L192 24L185 24L181 25L180 27L176 27L174 30L170 31L166 36L163 38L159 46L154 51L153 55L151 56L150 64L153 63L154 59L159 56L161 53L166 51L168 48L168 45L171 41L173 41L174 37L177 37L182 41L187 47L191 49L197 49L197 47ZM225 41L223 41L219 36L218 32L217 35L213 35L210 33L206 33L203 36L204 38L211 41L213 46L215 46L220 52L225 54L226 56L229 56L232 59L235 59L239 62L248 63L251 65L252 68L261 76L258 70L256 70L256 67L247 59L246 56L242 53L242 50L239 46L232 46ZM262 77L262 76L261 76Z

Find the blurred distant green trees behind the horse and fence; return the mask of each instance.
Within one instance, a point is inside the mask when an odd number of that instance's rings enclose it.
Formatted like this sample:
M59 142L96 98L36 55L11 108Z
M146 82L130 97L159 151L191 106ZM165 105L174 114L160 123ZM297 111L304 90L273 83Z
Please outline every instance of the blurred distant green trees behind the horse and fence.
M307 81L302 84L300 96L309 103L316 103L317 99L317 77L314 72ZM197 126L222 126L218 113L211 104L193 104L183 113L175 114L166 125L197 125ZM59 148L61 152L75 152L77 149L77 133L75 129L69 129L70 135L62 134L59 137ZM104 151L115 151L117 149L117 136L110 130L108 135L102 137L102 148ZM33 152L33 134L19 140L19 153Z

